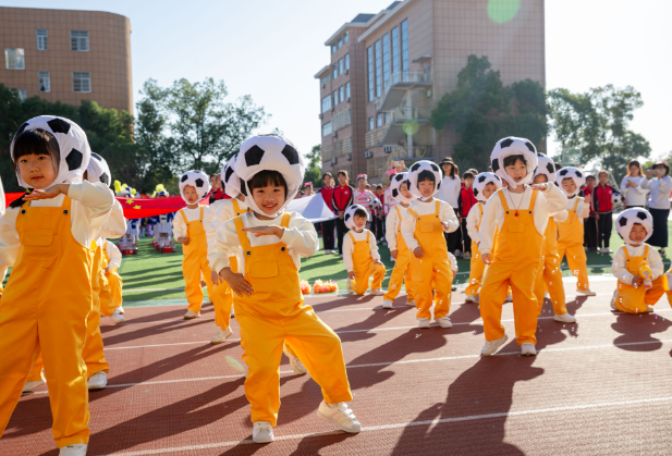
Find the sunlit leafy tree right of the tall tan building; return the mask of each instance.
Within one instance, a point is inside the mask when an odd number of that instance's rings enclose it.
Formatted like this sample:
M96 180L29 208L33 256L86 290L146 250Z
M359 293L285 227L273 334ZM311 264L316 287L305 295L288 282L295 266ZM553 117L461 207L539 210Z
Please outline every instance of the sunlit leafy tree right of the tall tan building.
M633 158L647 159L651 147L644 136L628 128L633 111L642 108L633 87L596 87L585 94L554 89L548 94L549 120L562 148L578 147L582 164L597 161L620 182Z

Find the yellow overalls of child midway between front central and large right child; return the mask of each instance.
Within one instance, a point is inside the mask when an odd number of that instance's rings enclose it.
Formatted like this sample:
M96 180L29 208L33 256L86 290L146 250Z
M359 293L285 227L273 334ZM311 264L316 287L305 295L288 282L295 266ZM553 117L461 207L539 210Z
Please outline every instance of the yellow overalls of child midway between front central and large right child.
M439 220L440 202L436 201L435 213L418 215L412 209L408 213L416 218L413 236L423 248L423 258L412 252L413 286L415 287L416 318L431 318L432 289L435 294L435 318L445 317L450 311L453 271L448 259L448 247L443 237L443 225Z

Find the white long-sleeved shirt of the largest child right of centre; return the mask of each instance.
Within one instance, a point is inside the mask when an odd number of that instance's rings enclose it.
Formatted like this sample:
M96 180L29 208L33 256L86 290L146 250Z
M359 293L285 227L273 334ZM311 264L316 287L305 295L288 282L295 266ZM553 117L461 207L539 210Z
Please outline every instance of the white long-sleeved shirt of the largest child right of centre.
M509 192L506 188L501 190L506 198L509 209L527 210L532 201L532 187L525 187L525 192L515 194ZM548 219L553 212L561 211L567 204L567 197L555 185L548 185L545 192L539 192L537 195L537 201L533 211L533 220L535 221L535 227L537 232L543 236L546 226L548 225ZM494 233L499 227L501 230L504 224L504 207L499 195L493 194L484 211L482 220L480 221L480 229L478 231L478 238L480 245L478 251L480 254L490 254L492 250L492 243L494 241Z

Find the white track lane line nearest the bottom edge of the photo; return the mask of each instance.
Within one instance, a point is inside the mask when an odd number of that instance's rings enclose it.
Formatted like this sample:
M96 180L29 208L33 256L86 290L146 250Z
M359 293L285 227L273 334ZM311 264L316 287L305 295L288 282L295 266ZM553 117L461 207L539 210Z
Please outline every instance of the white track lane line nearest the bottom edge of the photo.
M643 404L657 404L657 403L660 404L660 403L668 403L671 400L672 400L672 396L650 397L646 399L619 400L619 402L612 402L612 403L582 404L582 405L569 405L564 407L537 408L537 409L532 409L532 410L503 411L500 414L469 415L469 416L453 417L453 418L436 418L433 420L426 420L426 421L407 421L407 422L396 422L392 424L364 427L362 428L362 432L404 429L404 428L412 428L412 427L418 427L418 426L448 424L452 422L478 421L478 420L488 420L488 419L493 419L493 418L523 417L523 416L528 416L528 415L542 415L542 414L559 414L563 411L573 411L573 410L595 410L595 409L601 409L601 408L637 406L637 405L643 405ZM339 434L339 433L341 432L329 431L329 432L314 432L314 433L293 434L293 435L279 435L279 436L276 436L276 441L303 440L306 437L318 437L318 436ZM200 444L200 445L174 446L174 447L169 447L169 448L143 449L143 451L137 451L137 452L111 453L110 456L112 455L114 456L160 455L160 454L167 454L167 453L180 453L180 452L194 452L198 449L223 448L223 447L229 447L229 446L237 446L237 445L252 444L252 443L253 443L252 439L244 439L242 441L229 441L229 442L207 443L207 444Z

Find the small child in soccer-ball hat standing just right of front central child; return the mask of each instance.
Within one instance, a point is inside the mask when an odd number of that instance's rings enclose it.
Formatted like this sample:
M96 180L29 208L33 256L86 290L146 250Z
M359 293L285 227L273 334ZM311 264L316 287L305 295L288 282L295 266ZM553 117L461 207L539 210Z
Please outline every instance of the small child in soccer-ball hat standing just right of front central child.
M363 206L353 205L345 211L345 226L350 230L343 242L343 266L347 271L347 293L362 296L371 281L371 295L382 296L382 280L386 269L380 261L378 245L374 234L364 226L368 222L368 212Z

